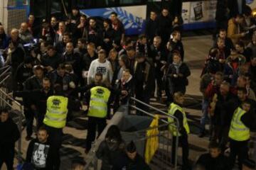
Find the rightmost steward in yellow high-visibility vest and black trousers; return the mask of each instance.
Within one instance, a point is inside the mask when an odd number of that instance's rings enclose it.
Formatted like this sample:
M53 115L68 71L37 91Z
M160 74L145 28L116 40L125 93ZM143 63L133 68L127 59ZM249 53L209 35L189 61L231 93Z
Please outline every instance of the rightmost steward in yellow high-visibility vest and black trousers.
M248 158L248 142L250 140L250 129L247 120L250 114L250 101L242 102L242 107L238 107L231 121L228 137L230 137L230 166L233 168L236 156L238 156L238 165L242 169L242 162ZM250 116L250 115L249 115ZM250 119L250 118L249 118Z

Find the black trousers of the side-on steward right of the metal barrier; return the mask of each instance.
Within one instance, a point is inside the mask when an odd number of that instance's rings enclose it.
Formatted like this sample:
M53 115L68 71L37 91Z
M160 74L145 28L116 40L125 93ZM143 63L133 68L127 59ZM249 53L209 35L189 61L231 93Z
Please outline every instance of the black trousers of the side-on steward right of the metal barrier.
M178 137L178 146L182 147L182 169L190 169L189 161L188 161L188 135L181 135ZM176 136L173 137L172 147L171 147L171 162L174 164L176 154Z

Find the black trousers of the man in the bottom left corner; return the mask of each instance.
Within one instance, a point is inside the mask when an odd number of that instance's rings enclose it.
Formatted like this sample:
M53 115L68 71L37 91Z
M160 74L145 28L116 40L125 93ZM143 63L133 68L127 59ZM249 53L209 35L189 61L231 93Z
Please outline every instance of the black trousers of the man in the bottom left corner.
M3 151L4 149L0 149L0 169L1 166L5 163L7 166L7 170L14 169L14 148Z

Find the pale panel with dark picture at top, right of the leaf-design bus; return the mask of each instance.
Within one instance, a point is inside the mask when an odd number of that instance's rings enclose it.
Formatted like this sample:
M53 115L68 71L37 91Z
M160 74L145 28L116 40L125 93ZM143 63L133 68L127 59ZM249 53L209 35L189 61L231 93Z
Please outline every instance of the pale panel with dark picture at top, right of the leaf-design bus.
M217 0L192 1L182 4L184 23L215 21Z

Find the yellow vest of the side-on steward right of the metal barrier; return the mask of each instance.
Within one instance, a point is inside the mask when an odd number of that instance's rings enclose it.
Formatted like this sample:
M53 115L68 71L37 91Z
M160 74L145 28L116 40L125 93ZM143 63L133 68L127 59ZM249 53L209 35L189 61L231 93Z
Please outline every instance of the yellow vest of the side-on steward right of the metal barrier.
M188 126L188 120L186 119L186 113L183 111L183 109L176 105L175 103L171 103L168 109L168 114L174 115L176 111L180 111L183 114L183 127L185 128L187 134L190 132L189 126ZM168 118L169 123L174 123L173 118ZM177 136L176 127L174 125L169 125L169 130L173 133L174 136ZM181 134L178 132L178 136L181 136Z

